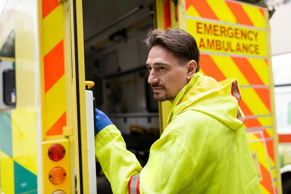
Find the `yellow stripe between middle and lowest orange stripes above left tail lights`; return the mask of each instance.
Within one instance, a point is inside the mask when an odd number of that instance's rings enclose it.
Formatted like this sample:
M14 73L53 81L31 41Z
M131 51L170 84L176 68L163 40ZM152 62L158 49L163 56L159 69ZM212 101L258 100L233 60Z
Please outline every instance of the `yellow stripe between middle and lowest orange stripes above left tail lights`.
M65 113L65 75L45 94L46 131Z

